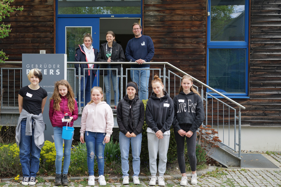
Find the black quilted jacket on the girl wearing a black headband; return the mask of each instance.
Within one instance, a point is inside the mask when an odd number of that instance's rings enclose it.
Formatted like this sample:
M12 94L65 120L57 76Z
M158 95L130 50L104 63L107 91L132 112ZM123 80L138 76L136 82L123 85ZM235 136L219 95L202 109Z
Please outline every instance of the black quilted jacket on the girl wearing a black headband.
M130 114L130 99L128 98L128 95L126 95L117 106L117 123L119 126L120 132L123 134L127 134L129 128L129 114ZM133 126L134 126L134 134L138 135L143 131L143 123L145 121L145 106L143 105L143 102L138 98L138 96L135 96L134 99L132 99L132 120L133 120Z

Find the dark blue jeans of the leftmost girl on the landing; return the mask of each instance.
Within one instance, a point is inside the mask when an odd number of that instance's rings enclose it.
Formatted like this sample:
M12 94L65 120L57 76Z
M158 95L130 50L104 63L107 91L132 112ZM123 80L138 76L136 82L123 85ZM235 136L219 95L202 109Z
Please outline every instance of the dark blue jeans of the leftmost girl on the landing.
M91 76L88 75L87 77L85 77L85 86L83 85L83 79L84 77L81 77L81 95L80 95L80 100L81 102L83 102L83 94L84 94L84 87L85 87L85 103L84 105L81 104L81 106L86 106L87 103L89 103L91 101L91 89L92 89L92 85L94 83L94 79L95 79L95 74L93 73L93 71L91 71ZM78 101L78 96L79 96L79 90L77 92L77 101Z

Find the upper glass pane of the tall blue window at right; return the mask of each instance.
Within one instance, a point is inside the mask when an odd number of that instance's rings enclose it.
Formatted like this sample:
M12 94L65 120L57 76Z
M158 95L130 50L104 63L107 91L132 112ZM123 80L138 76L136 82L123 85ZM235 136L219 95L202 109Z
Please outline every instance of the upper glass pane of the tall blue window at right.
M245 0L211 0L211 41L245 41Z

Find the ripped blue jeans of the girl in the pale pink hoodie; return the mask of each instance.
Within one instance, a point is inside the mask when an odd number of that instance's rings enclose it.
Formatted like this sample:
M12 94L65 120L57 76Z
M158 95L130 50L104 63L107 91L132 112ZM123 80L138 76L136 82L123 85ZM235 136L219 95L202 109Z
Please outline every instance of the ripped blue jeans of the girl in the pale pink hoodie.
M87 146L87 164L89 176L94 175L94 161L97 158L99 176L104 174L104 137L106 133L85 132L85 142Z

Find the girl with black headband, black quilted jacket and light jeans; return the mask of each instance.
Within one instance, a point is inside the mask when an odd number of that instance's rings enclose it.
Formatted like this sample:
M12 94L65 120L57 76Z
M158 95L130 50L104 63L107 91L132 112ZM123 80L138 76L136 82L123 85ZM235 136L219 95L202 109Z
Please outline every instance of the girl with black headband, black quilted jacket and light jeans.
M121 168L123 184L129 184L129 150L130 143L133 156L133 182L140 184L140 154L143 123L145 120L145 107L138 98L138 86L135 82L128 82L127 95L119 102L117 107L117 123L119 126L119 144L121 151Z

